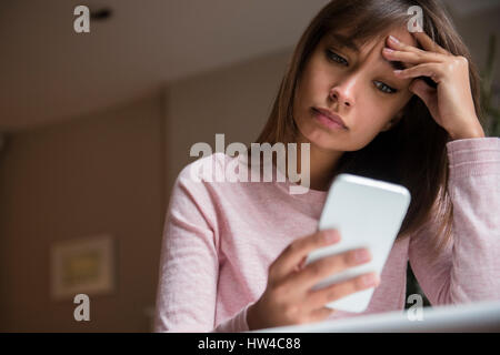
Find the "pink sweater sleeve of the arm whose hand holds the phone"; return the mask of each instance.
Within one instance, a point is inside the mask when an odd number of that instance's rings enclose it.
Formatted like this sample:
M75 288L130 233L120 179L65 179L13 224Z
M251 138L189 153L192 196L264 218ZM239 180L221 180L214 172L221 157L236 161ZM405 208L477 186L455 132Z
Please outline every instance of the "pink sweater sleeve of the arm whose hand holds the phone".
M243 332L247 307L216 322L219 235L206 182L179 174L166 215L160 253L154 332Z

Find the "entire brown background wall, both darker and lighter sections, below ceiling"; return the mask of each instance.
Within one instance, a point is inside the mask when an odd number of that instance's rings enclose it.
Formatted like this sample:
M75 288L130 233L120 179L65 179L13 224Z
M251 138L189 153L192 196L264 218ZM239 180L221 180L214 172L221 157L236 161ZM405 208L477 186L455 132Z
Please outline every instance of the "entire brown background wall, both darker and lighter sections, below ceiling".
M189 149L214 134L249 143L270 112L291 51L170 83L158 94L16 133L0 156L0 331L149 332L164 214ZM109 233L117 286L90 296L90 322L72 300L50 297L53 242Z

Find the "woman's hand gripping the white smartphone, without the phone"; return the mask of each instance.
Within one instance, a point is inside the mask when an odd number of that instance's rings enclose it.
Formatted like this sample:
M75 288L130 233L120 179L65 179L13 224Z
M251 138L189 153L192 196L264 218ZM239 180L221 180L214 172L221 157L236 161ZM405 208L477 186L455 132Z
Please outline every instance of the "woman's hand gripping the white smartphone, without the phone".
M340 240L337 231L323 230L290 243L269 266L266 291L247 311L249 329L324 321L333 312L326 304L372 286L359 276L311 292L311 287L328 275L364 263L349 251L303 265L311 251Z

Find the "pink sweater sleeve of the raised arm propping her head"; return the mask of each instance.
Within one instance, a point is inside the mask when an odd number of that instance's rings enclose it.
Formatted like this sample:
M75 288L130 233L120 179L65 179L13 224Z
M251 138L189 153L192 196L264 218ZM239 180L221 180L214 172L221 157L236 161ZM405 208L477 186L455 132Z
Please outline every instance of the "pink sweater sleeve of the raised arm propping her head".
M432 305L500 300L500 140L447 143L452 239L430 258L436 220L411 236L411 268Z

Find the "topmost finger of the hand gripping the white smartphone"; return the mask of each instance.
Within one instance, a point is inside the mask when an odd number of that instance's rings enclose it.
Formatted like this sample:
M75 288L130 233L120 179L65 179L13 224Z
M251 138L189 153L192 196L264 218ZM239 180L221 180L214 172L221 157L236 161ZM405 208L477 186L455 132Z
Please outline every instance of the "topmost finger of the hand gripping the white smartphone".
M328 240L328 237L331 237L332 240ZM339 241L340 234L336 230L319 231L293 241L271 264L269 277L273 281L283 278L290 274L290 272L297 270L297 265L303 265L306 262L303 258L307 257L310 252L318 247L338 243Z

